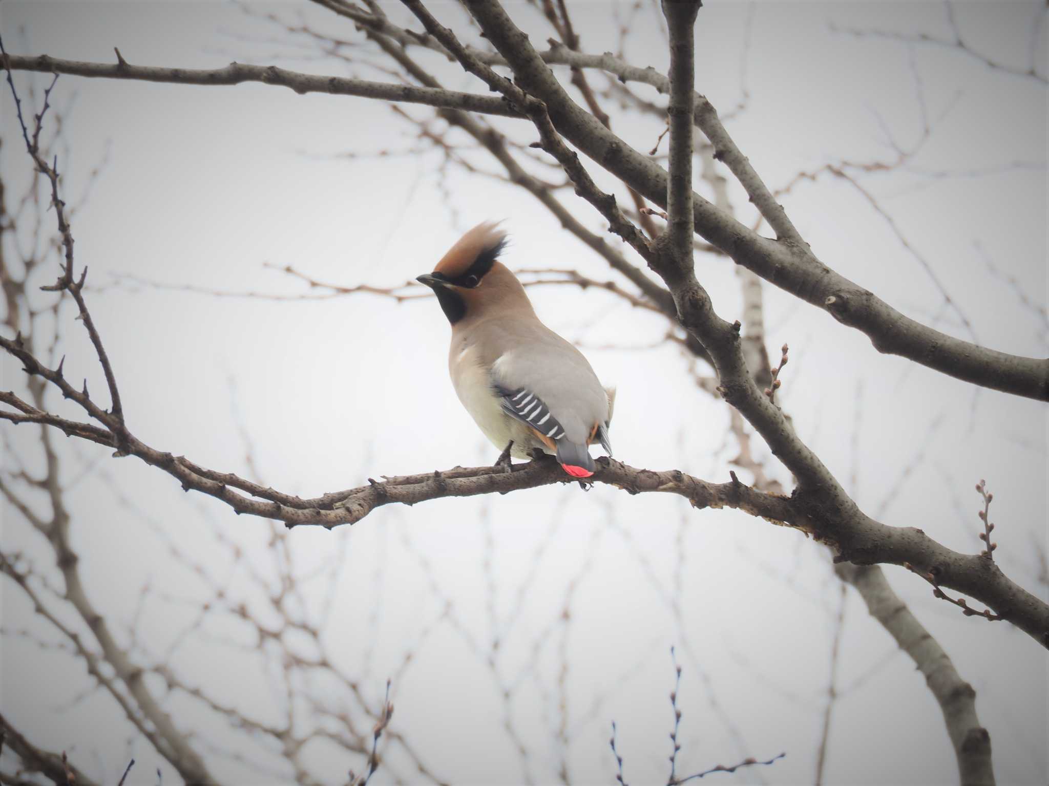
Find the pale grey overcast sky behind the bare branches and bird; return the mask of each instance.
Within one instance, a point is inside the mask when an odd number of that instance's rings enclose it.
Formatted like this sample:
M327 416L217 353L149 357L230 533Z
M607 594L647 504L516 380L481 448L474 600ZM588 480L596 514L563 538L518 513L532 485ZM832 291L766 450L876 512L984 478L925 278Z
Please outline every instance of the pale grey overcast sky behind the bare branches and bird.
M428 5L462 29L457 4ZM843 31L949 37L938 3L710 6L697 26L697 88L723 113L747 96L746 109L727 125L771 188L827 163L892 161L894 146L917 148L904 169L861 179L883 213L853 185L826 174L783 198L817 256L948 333L1018 354L1049 354L1044 78L990 69L956 48ZM250 7L361 38L351 23L322 8ZM383 7L392 18L404 17L399 4ZM527 4L507 7L533 41L551 35ZM613 3L572 7L586 50L618 48ZM1020 69L1033 52L1045 74L1046 25L1034 25L1040 7L966 3L956 18L973 50ZM4 0L0 25L13 53L112 62L117 46L127 61L142 65L219 67L237 60L349 73L343 63L297 58L305 49L290 45L279 26L229 4ZM665 69L664 48L646 8L631 22L626 56ZM437 59L425 62L449 87L483 91ZM388 79L367 68L357 75ZM30 81L39 99L45 79L16 74L23 99ZM301 281L271 267L285 265L343 285L400 284L432 269L473 224L501 218L511 232L505 257L511 268L575 268L614 278L523 191L454 168L444 172L434 152L378 155L421 147L414 127L382 103L300 96L264 85L62 77L52 104L64 118L68 153L60 168L68 201L101 165L74 214L73 233L78 265L90 268L89 306L131 430L157 449L215 470L257 474L284 492L316 496L368 477L494 461L497 451L448 381L449 330L441 309L431 299L277 301L166 287L307 293ZM0 165L12 204L30 170L6 92L0 106ZM407 111L428 115L422 108ZM643 151L661 130L656 118L622 112L613 112L613 123ZM520 122L496 125L524 144L535 136ZM497 171L479 153L467 155ZM596 165L591 169L596 172ZM706 183L697 189L709 194ZM738 189L731 194L740 219L752 223L746 196ZM603 232L592 210L568 192L561 198ZM738 318L731 263L699 255L697 264L719 313ZM55 257L39 283L50 283L57 270ZM937 281L956 307L945 307ZM547 286L530 294L541 319L584 350L606 385L618 386L612 428L617 458L711 481L728 478L736 446L726 437L725 406L695 387L675 345L650 347L665 334L664 320L602 291ZM973 391L879 355L861 334L770 285L765 299L770 355L785 342L791 347L784 406L801 438L863 509L976 551L980 498L973 484L986 478L994 493L996 556L1007 574L1045 597L1046 585L1035 577L1049 509L1045 407ZM66 373L86 376L102 395L104 380L71 318L63 311ZM0 369L5 389L23 384L9 357L0 359ZM700 365L695 371L708 370ZM38 461L36 434L8 431L20 456ZM109 452L72 440L58 444L66 477L76 479L72 538L92 601L114 625L126 625L144 584L152 587L140 617L144 657L184 637L193 604L207 594L192 571L172 561L166 539L209 574L226 576L230 560L213 536L217 528L261 574L272 575L264 522L184 495L172 478L136 459L111 460ZM245 463L249 444L254 468ZM764 446L758 453L768 455ZM772 471L789 486L787 473ZM21 549L47 564L46 544L10 507L3 509L2 539L5 550ZM384 507L352 528L298 528L288 543L298 575L333 555L342 561L326 640L372 700L386 677L398 675L394 725L450 782L510 784L524 777L504 728L507 717L533 752L530 774L537 783L555 780L562 759L577 783L611 782L612 720L626 779L665 778L672 645L683 668L682 769L786 750L774 766L731 778L812 781L839 585L829 552L797 532L734 511L694 511L684 500L631 497L599 485L585 495L564 486ZM886 566L885 572L976 689L999 781L1045 783L1044 651L1005 624L956 613L901 568ZM231 596L264 609L243 570L229 581ZM176 778L143 741L128 742L131 727L110 698L94 693L70 705L88 686L83 668L10 635L28 627L53 639L9 583L0 588L4 714L38 744L76 754L78 764L100 779L115 782L129 752L141 761L132 781L153 783L157 766ZM324 592L314 584L303 591L304 613L316 618ZM179 643L172 665L222 701L279 719L284 699L271 690L270 655L222 640L239 633L221 625L197 631ZM494 638L500 646L490 668L484 654ZM566 676L559 679L562 670ZM500 685L515 682L523 686L506 704ZM852 591L838 685L828 782L956 780L954 752L924 680ZM333 694L333 701L341 700ZM272 757L192 702L171 702L176 720L199 725L214 745L252 751L256 761ZM566 744L558 740L561 725L569 729ZM360 759L322 746L307 759L325 783L361 767ZM280 780L218 758L213 769L235 783ZM376 778L389 782L397 774L410 780L411 769L391 748L389 767Z

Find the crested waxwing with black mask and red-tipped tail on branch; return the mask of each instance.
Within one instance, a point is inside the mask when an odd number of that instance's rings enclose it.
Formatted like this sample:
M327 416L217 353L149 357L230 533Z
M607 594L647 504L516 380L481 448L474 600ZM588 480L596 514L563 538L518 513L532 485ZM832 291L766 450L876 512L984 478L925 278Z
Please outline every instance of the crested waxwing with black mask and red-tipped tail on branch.
M588 445L612 456L614 388L604 388L582 352L543 325L517 277L499 262L507 233L496 221L467 232L433 272L415 280L433 290L451 324L448 370L466 411L502 455L557 457L573 478L596 471Z

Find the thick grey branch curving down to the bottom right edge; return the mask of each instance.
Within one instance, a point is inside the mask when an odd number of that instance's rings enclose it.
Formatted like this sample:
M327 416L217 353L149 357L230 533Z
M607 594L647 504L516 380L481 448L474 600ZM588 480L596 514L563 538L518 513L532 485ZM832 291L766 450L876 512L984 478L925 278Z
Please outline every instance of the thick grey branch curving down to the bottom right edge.
M947 653L893 591L881 568L838 565L836 571L857 589L871 616L881 623L925 676L943 713L962 785L993 786L990 735L977 717L972 686L962 679Z

